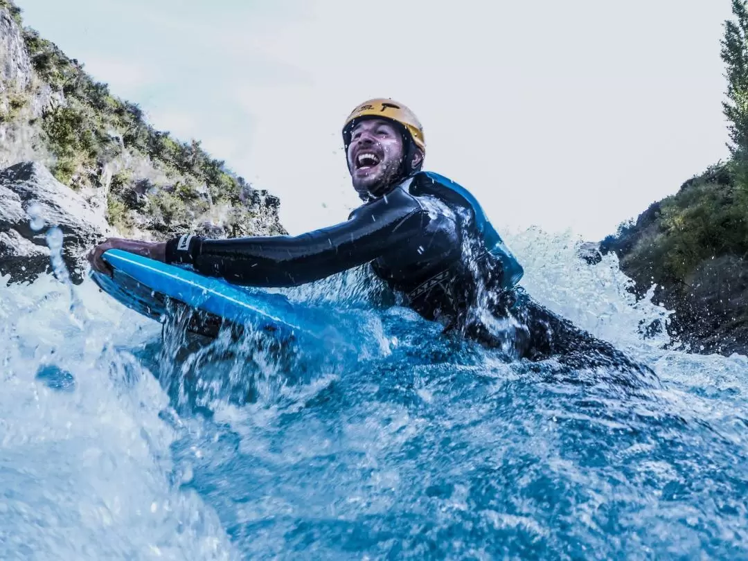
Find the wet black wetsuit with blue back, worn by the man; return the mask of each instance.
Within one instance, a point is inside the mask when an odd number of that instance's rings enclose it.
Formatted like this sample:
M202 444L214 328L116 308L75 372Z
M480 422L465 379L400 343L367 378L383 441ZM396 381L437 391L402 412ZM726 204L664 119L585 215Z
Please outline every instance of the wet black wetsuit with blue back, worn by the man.
M515 288L521 267L508 251L489 247L497 242L467 191L420 172L341 224L300 236L182 236L168 242L167 262L251 286L297 286L370 263L411 308L442 322L445 331L531 360L559 355L573 367L632 366L609 343ZM502 322L507 318L515 321Z

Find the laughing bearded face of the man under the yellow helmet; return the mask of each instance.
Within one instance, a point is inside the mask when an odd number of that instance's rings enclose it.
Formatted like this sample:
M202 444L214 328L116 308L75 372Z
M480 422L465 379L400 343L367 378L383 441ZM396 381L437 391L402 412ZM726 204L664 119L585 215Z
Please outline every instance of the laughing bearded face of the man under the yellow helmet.
M396 179L405 157L400 129L386 119L361 120L351 131L348 169L353 187L367 197Z

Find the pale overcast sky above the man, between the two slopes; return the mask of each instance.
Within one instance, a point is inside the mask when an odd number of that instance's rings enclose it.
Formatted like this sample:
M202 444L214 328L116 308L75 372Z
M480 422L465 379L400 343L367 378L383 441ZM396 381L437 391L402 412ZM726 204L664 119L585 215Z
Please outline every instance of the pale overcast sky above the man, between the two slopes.
M726 159L729 0L17 0L157 129L281 197L290 233L358 204L340 126L391 97L425 168L503 230L613 233Z

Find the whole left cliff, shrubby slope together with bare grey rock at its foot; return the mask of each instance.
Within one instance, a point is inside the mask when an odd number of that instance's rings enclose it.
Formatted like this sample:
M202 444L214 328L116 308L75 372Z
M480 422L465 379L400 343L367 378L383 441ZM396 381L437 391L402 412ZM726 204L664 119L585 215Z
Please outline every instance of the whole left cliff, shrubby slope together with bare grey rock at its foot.
M28 227L30 208L61 226L70 265L107 234L285 233L277 197L198 141L154 129L138 105L23 28L9 0L0 0L0 168L0 275L11 281L32 280L49 264L43 236Z

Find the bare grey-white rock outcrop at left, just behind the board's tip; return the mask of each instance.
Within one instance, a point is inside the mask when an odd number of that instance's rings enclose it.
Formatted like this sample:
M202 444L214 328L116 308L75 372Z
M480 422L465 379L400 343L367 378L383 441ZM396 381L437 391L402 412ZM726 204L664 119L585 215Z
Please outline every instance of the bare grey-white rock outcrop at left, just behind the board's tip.
M73 281L81 281L85 252L111 233L104 218L43 165L22 162L0 171L0 275L33 281L48 272L50 227L61 230L63 260Z

